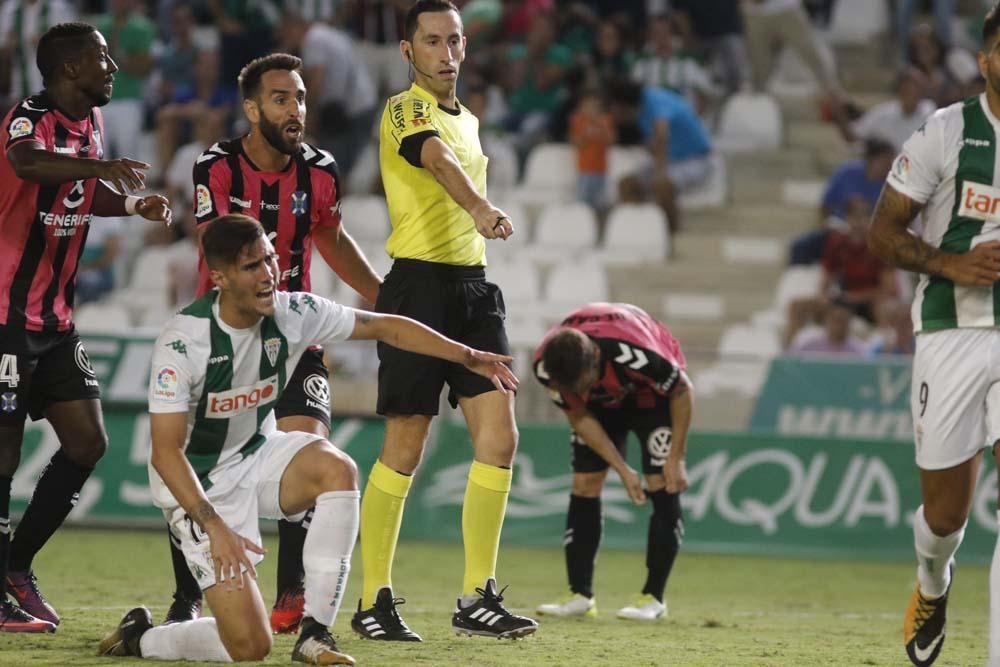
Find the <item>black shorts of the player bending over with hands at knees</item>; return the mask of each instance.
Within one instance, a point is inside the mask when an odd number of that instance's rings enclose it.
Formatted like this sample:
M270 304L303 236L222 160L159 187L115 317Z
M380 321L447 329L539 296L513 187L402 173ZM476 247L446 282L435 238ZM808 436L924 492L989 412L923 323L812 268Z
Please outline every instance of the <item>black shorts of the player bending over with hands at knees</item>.
M642 449L642 472L647 475L663 472L663 463L670 452L670 401L658 399L653 408L638 409L626 405L618 409L591 409L611 441L628 460L628 434L635 433ZM573 448L573 472L603 472L608 463L591 449L576 433L570 431Z

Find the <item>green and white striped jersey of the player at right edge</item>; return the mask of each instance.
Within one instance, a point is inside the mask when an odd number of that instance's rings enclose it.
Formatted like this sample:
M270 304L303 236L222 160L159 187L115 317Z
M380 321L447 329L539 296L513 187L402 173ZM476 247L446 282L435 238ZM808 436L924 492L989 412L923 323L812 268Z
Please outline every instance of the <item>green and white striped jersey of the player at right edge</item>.
M986 96L938 110L903 145L888 184L924 204L921 238L946 252L1000 239L1000 120ZM914 330L1000 326L1000 290L958 287L922 275L913 301Z

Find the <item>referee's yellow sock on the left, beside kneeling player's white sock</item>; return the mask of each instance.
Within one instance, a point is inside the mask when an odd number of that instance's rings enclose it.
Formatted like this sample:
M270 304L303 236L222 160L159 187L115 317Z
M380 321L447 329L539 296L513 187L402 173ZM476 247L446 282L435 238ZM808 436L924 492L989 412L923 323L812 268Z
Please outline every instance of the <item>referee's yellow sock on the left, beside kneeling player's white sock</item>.
M413 477L375 461L361 499L361 567L364 576L361 599L375 604L383 586L392 586L392 559L403 520L403 504Z

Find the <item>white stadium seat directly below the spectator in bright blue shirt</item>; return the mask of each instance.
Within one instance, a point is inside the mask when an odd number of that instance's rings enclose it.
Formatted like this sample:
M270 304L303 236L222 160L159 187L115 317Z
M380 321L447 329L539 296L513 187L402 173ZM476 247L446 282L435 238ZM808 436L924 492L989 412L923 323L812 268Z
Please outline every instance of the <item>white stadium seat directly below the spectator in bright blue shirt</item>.
M670 234L656 204L618 204L608 215L600 257L608 263L666 261Z

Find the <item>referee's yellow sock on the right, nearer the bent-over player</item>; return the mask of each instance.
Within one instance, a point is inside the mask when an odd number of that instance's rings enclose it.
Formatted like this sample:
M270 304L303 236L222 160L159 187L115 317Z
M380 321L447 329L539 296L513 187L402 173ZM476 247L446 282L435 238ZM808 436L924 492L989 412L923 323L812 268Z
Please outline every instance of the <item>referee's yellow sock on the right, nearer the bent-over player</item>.
M462 506L462 538L465 542L465 580L462 595L476 595L490 577L496 576L500 529L507 512L510 468L472 462Z

